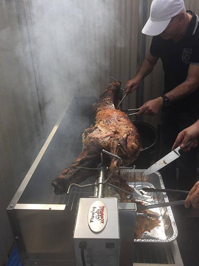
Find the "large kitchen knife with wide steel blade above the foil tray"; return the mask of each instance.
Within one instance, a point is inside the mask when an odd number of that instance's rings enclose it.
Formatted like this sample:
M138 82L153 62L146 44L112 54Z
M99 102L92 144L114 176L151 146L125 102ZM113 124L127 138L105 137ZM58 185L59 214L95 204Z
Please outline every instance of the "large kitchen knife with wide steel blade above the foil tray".
M187 143L187 145L185 146L185 148L187 148L195 140L196 139L190 140ZM185 149L185 148L183 148L183 149ZM171 151L170 153L165 155L162 159L157 161L155 164L150 166L147 170L145 170L144 173L142 174L142 176L147 176L147 175L153 174L154 172L162 169L166 165L168 165L171 162L173 162L174 160L178 159L181 156L180 153L179 153L179 151L181 151L181 150L182 150L182 148L180 146L177 147L176 149L174 149L173 151Z

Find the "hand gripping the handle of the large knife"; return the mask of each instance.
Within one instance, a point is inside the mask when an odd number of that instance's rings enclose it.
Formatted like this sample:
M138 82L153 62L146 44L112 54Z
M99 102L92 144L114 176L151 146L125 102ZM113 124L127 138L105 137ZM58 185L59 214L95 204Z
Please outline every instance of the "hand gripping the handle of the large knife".
M192 126L187 127L183 131L181 131L176 141L174 142L174 145L172 147L172 150L176 149L178 146L181 146L181 148L184 148L186 144L192 140L199 137L199 120L194 123ZM184 149L184 151L190 151L191 148L195 148L198 146L198 141L193 141L188 148Z

